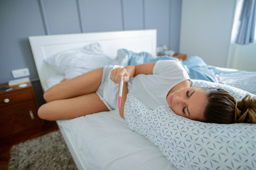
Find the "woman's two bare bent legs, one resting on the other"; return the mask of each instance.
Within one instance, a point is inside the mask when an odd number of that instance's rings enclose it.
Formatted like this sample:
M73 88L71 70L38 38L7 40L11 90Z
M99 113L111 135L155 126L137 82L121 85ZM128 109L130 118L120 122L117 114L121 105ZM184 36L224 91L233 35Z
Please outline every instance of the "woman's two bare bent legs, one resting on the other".
M43 94L48 103L38 109L46 120L77 118L81 115L109 111L95 93L102 80L103 68L56 84Z

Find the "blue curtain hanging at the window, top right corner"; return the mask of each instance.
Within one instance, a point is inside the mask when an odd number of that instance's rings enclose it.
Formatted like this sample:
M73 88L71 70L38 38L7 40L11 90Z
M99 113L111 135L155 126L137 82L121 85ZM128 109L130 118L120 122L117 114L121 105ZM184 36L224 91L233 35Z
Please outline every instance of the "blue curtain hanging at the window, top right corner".
M240 26L236 43L246 45L255 40L256 3L255 0L244 0L240 13Z

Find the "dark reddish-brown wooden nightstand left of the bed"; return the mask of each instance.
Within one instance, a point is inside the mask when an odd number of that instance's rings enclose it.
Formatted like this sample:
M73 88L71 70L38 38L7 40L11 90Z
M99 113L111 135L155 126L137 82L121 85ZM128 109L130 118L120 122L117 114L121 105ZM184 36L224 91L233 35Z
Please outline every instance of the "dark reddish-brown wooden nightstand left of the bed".
M26 84L25 87L0 84L0 88L12 88L11 91L0 91L0 145L43 130L33 86L30 81Z

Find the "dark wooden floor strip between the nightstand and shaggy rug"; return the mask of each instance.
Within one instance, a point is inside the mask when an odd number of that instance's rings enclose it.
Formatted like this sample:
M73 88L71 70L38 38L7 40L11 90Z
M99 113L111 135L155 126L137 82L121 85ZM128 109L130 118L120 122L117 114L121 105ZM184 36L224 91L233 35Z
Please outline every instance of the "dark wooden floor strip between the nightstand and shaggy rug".
M17 145L20 142L25 142L26 140L32 140L36 137L41 137L42 135L46 135L48 132L53 132L58 130L58 125L55 121L46 121L43 122L43 130L34 135L30 135L27 137L23 137L18 142L14 142L8 145L0 146L0 170L9 169L9 159L10 159L10 150L13 145Z

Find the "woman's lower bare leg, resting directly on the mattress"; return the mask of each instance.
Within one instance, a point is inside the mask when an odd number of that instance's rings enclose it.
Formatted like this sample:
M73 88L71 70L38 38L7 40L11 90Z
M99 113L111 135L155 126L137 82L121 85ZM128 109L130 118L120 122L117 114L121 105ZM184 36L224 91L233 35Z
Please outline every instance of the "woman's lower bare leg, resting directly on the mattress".
M101 111L110 110L97 94L92 93L46 103L39 108L38 115L46 120L64 120Z

